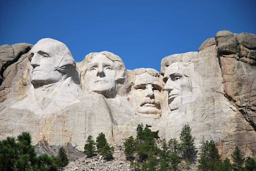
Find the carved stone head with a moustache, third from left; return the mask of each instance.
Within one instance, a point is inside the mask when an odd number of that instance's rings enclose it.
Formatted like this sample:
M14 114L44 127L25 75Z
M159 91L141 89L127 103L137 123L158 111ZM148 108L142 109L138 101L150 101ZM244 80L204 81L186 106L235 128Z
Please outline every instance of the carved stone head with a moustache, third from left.
M161 113L161 91L163 88L160 74L154 69L145 69L145 71L136 75L132 103L135 111L144 114Z

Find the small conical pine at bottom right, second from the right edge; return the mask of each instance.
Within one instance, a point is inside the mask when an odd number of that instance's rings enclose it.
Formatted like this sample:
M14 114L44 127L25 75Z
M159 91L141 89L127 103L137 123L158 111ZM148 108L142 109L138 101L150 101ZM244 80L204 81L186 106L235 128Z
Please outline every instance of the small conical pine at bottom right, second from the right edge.
M244 164L244 157L242 151L239 149L238 146L236 146L234 152L231 154L231 157L233 158L233 169L234 171L241 171L243 170L243 164Z

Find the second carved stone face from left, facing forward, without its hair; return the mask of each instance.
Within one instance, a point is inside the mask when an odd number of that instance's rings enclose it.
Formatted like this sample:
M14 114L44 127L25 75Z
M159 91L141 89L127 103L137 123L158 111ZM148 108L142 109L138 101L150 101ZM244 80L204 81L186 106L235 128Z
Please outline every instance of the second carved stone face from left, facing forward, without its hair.
M89 91L109 95L116 91L116 68L104 54L93 56L85 75Z

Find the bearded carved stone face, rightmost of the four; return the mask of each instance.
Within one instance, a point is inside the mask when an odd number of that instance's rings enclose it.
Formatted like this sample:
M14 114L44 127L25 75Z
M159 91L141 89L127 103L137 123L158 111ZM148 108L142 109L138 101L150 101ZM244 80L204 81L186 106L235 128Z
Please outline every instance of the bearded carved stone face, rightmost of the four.
M169 65L164 73L164 90L168 91L168 106L172 111L180 106L184 79L186 79L184 67L180 62Z

